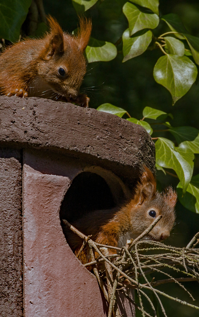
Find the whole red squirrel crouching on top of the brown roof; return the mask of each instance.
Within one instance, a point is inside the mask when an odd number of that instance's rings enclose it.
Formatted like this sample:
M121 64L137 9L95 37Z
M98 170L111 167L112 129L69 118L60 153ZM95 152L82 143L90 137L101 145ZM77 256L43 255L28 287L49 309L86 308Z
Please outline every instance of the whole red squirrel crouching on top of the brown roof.
M77 35L63 32L47 18L50 32L41 39L24 39L0 55L0 94L8 97L43 97L88 107L79 94L86 73L83 52L89 42L91 21L80 18Z

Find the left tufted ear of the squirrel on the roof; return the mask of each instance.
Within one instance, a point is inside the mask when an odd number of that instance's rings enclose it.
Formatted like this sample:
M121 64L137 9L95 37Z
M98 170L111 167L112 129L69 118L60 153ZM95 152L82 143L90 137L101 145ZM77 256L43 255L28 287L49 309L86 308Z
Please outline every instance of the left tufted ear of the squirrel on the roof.
M55 53L63 52L63 30L52 16L48 16L47 21L50 26L50 44L47 48L47 57L50 58Z

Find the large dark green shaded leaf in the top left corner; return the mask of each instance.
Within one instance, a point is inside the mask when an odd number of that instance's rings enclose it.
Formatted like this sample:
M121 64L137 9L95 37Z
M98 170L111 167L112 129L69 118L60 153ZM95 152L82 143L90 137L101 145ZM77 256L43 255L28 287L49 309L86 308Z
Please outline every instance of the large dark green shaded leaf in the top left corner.
M19 39L20 29L25 21L31 0L1 0L0 38L11 42Z

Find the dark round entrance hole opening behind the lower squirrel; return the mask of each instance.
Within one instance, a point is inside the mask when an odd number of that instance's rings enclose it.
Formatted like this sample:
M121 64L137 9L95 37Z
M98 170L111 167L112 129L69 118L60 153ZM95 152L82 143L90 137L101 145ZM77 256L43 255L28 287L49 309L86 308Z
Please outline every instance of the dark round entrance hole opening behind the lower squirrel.
M63 232L71 249L74 249L73 244L77 237L63 225L62 219L75 223L81 218L83 222L83 215L92 211L119 208L128 198L128 193L121 179L110 171L94 167L78 174L60 207Z

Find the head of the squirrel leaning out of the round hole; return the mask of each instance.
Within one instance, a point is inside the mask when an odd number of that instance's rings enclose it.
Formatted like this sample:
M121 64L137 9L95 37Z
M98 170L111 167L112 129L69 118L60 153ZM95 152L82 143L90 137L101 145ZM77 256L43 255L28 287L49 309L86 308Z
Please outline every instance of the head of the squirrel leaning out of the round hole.
M164 193L156 190L156 179L152 172L144 167L145 171L136 187L134 198L129 203L131 230L139 236L150 224L162 215L162 219L145 236L144 240L162 241L169 237L175 222L176 191L171 187Z

